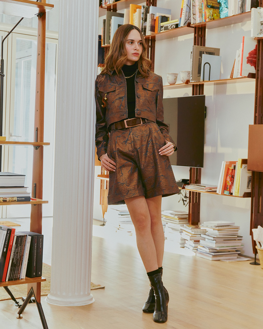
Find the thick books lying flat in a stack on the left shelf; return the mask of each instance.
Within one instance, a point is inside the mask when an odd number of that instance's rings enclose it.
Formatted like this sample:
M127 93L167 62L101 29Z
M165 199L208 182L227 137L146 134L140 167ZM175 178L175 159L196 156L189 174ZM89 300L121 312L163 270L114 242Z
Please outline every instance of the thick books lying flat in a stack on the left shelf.
M30 193L25 187L25 175L0 172L0 202L28 202Z

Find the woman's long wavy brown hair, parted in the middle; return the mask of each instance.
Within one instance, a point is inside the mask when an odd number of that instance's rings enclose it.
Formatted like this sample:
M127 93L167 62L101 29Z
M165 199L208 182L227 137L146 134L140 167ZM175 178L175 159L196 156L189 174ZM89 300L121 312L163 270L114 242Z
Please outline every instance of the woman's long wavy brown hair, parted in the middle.
M105 58L105 67L101 73L108 73L111 75L111 71L115 70L119 75L121 68L127 61L125 41L133 29L140 33L142 40L142 53L138 60L138 70L143 77L149 76L152 62L147 58L147 45L145 39L143 38L141 30L137 26L131 24L121 25L115 32L112 38L109 52Z

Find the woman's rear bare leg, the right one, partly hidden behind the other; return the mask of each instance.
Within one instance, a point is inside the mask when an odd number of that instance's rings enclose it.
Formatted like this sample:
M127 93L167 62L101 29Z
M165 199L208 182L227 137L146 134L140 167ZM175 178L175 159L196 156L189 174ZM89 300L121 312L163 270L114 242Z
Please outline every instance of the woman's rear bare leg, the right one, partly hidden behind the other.
M155 244L158 267L162 266L164 252L164 232L161 218L162 196L145 199L151 216L151 233Z

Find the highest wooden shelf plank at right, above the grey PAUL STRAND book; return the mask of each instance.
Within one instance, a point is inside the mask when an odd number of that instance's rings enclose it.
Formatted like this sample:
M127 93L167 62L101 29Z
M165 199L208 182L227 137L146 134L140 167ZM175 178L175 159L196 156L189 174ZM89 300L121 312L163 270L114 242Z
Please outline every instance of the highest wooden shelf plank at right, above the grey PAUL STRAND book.
M237 23L243 23L251 20L251 11L246 12L246 13L241 13L229 17L224 17L224 18L219 18L219 19L214 19L208 22L202 22L202 23L197 23L193 24L191 26L205 26L207 29L215 29L217 27L222 27L222 26L227 26L227 25L232 25L232 24L237 24Z

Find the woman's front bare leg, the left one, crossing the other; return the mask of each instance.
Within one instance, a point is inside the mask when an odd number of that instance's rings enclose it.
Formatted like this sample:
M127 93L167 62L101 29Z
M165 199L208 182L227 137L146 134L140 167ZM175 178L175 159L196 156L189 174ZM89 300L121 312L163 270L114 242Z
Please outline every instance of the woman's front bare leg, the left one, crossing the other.
M158 263L151 231L151 216L146 199L140 195L125 199L125 203L135 227L137 247L143 265L146 272L154 271L158 268ZM161 230L163 231L162 227Z

